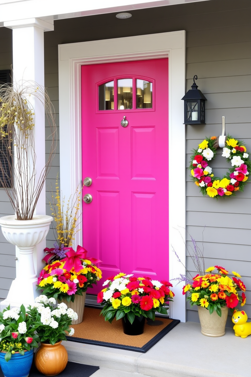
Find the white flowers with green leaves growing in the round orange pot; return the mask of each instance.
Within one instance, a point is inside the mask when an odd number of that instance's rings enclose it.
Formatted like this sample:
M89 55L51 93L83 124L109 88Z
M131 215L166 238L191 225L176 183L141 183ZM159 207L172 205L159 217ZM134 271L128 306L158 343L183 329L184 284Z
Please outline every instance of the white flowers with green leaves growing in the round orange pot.
M42 343L55 344L59 340L66 340L66 335L74 334L70 325L73 320L78 319L78 314L67 308L65 303L56 306L53 297L48 298L41 294L33 305L29 305L27 313L32 318Z

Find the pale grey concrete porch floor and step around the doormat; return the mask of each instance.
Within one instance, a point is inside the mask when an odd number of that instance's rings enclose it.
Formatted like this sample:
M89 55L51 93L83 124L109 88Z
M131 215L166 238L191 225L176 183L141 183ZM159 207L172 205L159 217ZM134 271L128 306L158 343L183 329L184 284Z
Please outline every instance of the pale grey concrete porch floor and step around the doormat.
M201 334L196 322L179 323L146 353L62 342L68 360L99 366L93 377L251 377L251 336Z

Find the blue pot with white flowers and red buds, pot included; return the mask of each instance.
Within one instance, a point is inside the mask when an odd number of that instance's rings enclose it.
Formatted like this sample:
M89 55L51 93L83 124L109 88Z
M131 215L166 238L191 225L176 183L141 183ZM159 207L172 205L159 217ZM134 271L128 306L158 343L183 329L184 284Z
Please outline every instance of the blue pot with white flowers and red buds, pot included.
M0 312L0 365L6 377L29 375L33 348L40 340L36 329L24 305Z

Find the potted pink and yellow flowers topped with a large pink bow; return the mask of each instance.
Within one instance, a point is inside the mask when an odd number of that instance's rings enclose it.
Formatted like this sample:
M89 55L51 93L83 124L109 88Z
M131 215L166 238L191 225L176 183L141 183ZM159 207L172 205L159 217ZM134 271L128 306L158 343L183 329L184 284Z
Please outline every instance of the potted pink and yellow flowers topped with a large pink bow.
M95 263L100 262L95 258L86 258L87 251L77 247L75 252L67 248L66 257L62 260L46 265L38 277L37 287L43 290L47 297L54 297L65 302L78 313L78 320L73 324L82 322L85 295L87 288L102 277L101 270Z

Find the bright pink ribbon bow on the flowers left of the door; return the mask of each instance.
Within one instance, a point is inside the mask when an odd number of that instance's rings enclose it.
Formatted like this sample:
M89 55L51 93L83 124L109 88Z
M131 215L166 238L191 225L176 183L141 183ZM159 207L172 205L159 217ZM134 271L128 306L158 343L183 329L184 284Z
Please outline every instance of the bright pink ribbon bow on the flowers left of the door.
M65 253L67 257L62 259L63 261L65 261L63 268L68 272L70 272L71 268L73 267L76 272L79 272L80 270L82 270L83 266L82 266L81 259L86 259L87 250L85 250L85 248L80 245L78 245L77 251L74 251L72 247L67 247L64 250L69 250L69 251ZM100 261L100 259L96 259L96 258L88 258L88 259L91 263L95 263L95 264L102 262Z

